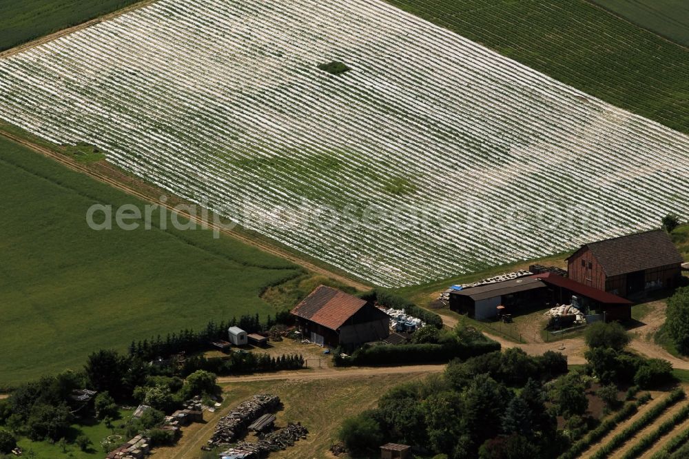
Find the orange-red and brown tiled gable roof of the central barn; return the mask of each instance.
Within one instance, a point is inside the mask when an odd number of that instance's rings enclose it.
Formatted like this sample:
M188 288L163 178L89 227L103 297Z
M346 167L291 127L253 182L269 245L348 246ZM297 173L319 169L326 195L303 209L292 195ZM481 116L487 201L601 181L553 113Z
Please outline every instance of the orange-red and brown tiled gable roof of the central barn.
M337 330L366 303L356 296L320 285L296 305L291 314Z

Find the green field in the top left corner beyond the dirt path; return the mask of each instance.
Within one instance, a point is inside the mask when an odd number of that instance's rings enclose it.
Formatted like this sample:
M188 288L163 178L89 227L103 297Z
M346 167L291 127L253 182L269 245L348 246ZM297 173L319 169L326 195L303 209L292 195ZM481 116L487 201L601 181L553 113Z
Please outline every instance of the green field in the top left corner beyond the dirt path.
M90 21L139 0L0 1L0 51Z

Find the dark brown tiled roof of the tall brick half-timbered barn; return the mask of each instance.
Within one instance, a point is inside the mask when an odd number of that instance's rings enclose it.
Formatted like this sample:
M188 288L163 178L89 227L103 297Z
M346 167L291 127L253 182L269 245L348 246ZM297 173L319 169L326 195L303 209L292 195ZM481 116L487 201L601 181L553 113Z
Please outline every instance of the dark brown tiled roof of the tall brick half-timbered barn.
M664 230L630 234L583 245L608 276L644 271L655 267L681 264L682 256Z

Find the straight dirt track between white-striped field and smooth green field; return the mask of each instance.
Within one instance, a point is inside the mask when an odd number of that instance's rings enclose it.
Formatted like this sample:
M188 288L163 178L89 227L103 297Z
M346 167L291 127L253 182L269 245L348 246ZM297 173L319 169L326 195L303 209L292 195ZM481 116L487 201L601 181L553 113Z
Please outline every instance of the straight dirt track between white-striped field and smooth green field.
M36 152L39 152L43 154L44 156L48 156L59 163L69 167L72 170L75 170L77 172L83 172L84 174L88 174L91 176L93 179L96 179L98 181L101 181L103 183L107 183L108 185L111 185L118 190L121 190L127 194L131 194L132 196L136 196L137 198L147 201L150 203L154 203L156 205L160 205L161 207L165 207L167 210L170 210L171 212L175 212L176 214L179 214L185 218L188 218L190 221L194 221L196 224L200 225L201 227L205 227L209 230L215 230L218 231L222 234L225 234L226 236L232 237L237 239L238 241L241 241L247 245L251 245L252 247L256 247L260 250L263 250L263 252L268 252L269 254L273 254L276 256L279 256L280 258L285 258L288 261L291 261L295 265L299 265L305 269L307 269L310 272L320 274L322 276L327 276L329 278L335 279L336 281L339 281L340 283L343 283L345 285L349 285L350 287L354 287L358 290L365 291L371 289L368 285L364 285L363 283L353 281L351 278L348 278L346 276L342 276L340 274L337 274L336 272L329 271L328 269L325 269L324 267L320 267L318 265L315 265L313 263L310 263L309 261L304 260L303 258L300 258L296 256L295 254L292 254L291 252L287 252L286 250L280 249L279 247L269 245L267 243L264 243L262 241L258 241L254 238L251 238L249 236L245 236L244 234L240 234L238 232L234 232L232 230L227 230L226 228L223 228L220 225L216 225L215 223L212 223L210 221L204 221L202 218L189 214L189 212L184 212L182 210L175 209L173 205L170 205L169 203L163 202L160 199L150 196L149 194L142 193L138 190L135 190L134 187L131 187L129 185L125 185L121 181L112 179L112 177L107 176L105 174L101 174L100 172L96 172L89 167L85 167L76 161L70 159L68 156L65 156L64 154L60 154L58 152L54 152L50 150L47 147L42 147L41 145L36 145L35 143L32 143L30 141L27 141L25 139L21 139L21 137L14 136L12 134L8 134L7 132L2 132L0 131L0 135L7 137L8 139L20 143L21 145L24 145L25 147L29 147L31 150L34 150Z

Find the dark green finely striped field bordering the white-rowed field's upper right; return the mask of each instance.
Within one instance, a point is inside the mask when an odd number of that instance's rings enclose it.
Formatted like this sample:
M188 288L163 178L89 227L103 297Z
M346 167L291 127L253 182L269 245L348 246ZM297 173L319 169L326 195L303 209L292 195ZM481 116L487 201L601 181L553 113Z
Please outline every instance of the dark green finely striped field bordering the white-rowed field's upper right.
M592 3L388 1L599 99L689 133L689 50Z

